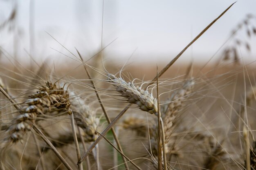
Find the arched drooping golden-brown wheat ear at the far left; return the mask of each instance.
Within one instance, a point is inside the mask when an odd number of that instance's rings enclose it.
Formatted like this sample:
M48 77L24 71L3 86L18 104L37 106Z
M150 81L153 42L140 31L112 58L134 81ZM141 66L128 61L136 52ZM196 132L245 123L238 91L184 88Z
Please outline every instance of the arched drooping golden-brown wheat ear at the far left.
M31 122L34 123L38 115L43 116L52 111L72 113L69 93L56 84L46 82L46 85L40 86L36 93L32 93L24 101L18 110L20 115L11 122L11 126L7 129L9 135L4 141L7 144L20 141L25 133L31 130Z

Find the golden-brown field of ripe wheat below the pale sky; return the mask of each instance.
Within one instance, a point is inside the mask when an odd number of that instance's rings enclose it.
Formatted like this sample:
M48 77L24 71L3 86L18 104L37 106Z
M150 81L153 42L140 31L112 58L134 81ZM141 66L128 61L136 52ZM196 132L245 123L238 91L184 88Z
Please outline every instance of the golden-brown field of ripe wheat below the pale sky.
M229 8L158 66L65 47L68 63L0 64L0 169L255 170L254 62L175 63Z

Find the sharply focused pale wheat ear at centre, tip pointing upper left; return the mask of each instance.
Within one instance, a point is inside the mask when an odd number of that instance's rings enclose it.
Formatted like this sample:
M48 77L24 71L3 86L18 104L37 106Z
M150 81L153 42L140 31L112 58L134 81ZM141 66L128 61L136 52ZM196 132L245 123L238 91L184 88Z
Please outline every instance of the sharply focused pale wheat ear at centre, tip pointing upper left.
M121 77L117 78L112 74L108 74L108 80L115 86L116 91L127 99L127 102L137 104L140 110L157 114L157 99L153 97L152 93L143 90L141 86L137 86L133 82L127 83Z

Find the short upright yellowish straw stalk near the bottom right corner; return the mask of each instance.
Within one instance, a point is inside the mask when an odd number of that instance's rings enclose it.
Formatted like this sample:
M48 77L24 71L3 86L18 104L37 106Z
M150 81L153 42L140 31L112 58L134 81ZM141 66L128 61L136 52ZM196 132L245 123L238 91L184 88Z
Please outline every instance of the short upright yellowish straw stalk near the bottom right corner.
M250 139L249 139L249 132L247 130L247 127L243 127L243 139L245 144L245 167L246 170L251 170L251 156L250 156Z

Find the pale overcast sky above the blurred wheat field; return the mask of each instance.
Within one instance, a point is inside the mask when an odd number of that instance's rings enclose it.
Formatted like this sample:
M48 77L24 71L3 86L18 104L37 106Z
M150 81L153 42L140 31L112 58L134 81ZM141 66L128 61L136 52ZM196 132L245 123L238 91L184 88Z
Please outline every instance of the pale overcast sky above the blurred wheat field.
M60 57L56 49L79 49L90 57L101 48L103 11L103 47L106 58L127 59L137 49L132 60L166 61L175 57L192 38L213 21L234 0L22 0L17 1L16 29L0 30L0 46L13 54L13 40L18 55L27 57ZM0 0L0 23L7 19L15 1ZM32 7L34 40L30 45L29 7ZM208 60L229 38L231 31L248 13L256 15L256 0L239 0L180 60ZM33 23L33 22L32 22ZM255 25L255 20L250 25ZM13 37L13 32L15 35ZM246 59L256 59L256 36L247 38L244 30L239 38L252 45L252 52L241 49ZM232 40L227 43L232 43ZM33 49L31 50L30 47ZM52 49L53 48L53 49ZM217 54L216 58L220 55ZM61 56L64 58L64 56Z

